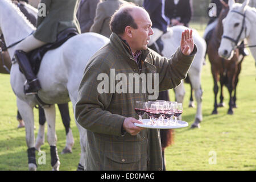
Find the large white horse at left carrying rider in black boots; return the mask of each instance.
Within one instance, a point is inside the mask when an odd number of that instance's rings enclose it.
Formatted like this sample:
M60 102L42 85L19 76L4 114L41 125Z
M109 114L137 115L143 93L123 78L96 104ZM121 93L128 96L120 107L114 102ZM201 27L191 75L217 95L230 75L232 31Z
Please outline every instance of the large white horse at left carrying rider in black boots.
M5 36L6 45L9 46L26 38L35 30L30 22L10 0L0 1L0 31ZM47 140L51 146L52 168L59 169L60 162L56 151L55 134L55 105L67 103L71 100L73 109L77 100L77 92L87 61L98 49L109 41L108 38L94 33L73 36L61 47L48 51L42 60L38 78L42 90L38 96L42 101L51 104L45 107L48 122ZM8 49L10 57L14 56L15 46ZM28 146L28 168L36 169L34 113L33 107L38 104L35 96L26 96L23 92L23 83L26 80L19 71L19 65L11 67L10 82L16 95L16 102L20 114L25 122L26 142ZM77 122L80 133L81 157L80 165L85 163L86 130Z

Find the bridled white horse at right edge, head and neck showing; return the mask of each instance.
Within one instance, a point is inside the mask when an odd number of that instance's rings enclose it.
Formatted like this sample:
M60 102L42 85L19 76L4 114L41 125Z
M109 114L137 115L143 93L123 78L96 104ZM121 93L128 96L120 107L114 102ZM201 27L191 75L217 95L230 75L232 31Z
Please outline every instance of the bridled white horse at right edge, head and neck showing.
M256 65L256 9L247 6L249 2L250 0L246 0L241 4L229 0L229 13L222 21L224 31L218 54L231 59L234 49L243 39L247 39Z

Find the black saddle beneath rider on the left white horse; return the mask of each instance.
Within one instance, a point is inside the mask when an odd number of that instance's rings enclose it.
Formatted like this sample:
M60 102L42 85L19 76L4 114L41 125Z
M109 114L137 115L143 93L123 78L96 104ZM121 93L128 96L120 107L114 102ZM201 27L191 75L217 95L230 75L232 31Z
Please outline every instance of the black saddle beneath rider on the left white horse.
M57 36L57 40L54 43L46 44L42 47L34 49L27 53L28 60L30 61L30 65L32 70L34 71L35 75L38 74L40 63L43 59L44 54L52 49L56 49L60 47L63 43L65 43L69 38L72 36L78 35L76 28L67 28L64 31L60 32Z

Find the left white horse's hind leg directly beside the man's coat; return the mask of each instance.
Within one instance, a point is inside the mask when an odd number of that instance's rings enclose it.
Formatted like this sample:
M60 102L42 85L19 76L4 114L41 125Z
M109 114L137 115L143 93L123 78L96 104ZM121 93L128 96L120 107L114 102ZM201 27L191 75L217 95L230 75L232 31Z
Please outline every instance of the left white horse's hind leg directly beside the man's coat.
M69 90L69 98L73 104L73 112L75 111L75 105L77 100L77 90L73 90L73 86L70 86ZM75 112L74 112L75 113ZM74 114L75 115L75 114ZM76 121L76 118L75 118ZM80 161L77 167L77 171L84 171L85 169L85 147L86 147L86 129L84 129L79 123L76 121L76 126L79 129L79 135L80 135L80 147L81 147L81 155L80 155Z

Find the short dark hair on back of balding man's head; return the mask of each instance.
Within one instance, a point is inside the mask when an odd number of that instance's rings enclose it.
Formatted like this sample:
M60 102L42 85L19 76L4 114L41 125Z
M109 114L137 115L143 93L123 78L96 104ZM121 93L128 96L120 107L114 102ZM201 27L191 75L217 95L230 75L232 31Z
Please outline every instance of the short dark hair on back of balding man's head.
M109 26L110 30L117 35L122 35L125 32L126 26L131 26L135 29L138 28L137 24L134 21L133 16L131 16L131 6L124 7L121 11L115 11L113 14Z

